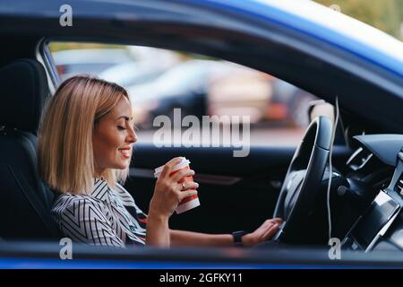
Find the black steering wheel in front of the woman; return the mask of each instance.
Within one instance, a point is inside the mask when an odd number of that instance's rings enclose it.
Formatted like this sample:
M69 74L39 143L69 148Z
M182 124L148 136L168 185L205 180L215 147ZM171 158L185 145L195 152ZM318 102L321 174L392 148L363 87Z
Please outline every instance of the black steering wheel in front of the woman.
M279 193L273 217L280 217L284 222L273 240L303 241L328 163L332 131L330 118L323 116L314 118L306 129Z

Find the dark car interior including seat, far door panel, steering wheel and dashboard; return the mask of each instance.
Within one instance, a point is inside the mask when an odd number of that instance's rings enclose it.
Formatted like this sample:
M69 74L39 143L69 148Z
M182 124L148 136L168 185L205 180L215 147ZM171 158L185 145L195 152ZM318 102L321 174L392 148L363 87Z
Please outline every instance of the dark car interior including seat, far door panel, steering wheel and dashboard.
M58 242L63 234L49 213L55 193L39 178L36 152L40 115L58 84L56 66L47 49L50 37L44 39L30 33L22 36L2 34L7 45L2 48L0 57L3 87L0 239L4 242ZM82 37L66 39L80 41ZM152 42L147 44L161 46ZM183 45L191 52L201 52L190 47ZM251 53L254 52L259 55L257 49ZM205 49L204 54L224 56L222 51L213 49ZM224 57L236 62L236 52ZM249 64L253 65L253 61ZM270 69L278 71L273 74L286 73L276 60L272 63ZM248 63L244 60L243 64ZM258 64L254 66L259 68ZM298 68L302 69L296 66L295 73ZM336 71L330 70L330 74ZM292 76L295 74L287 74L285 80ZM343 77L340 76L340 82L345 80ZM343 83L354 82L358 80ZM314 81L295 80L294 83L307 90L309 85L315 86ZM324 88L315 87L311 91L317 91L315 95L323 98L321 89ZM366 87L361 91L370 89ZM244 158L233 157L233 149L227 147L156 148L148 143L135 144L130 176L124 187L147 213L155 185L154 168L178 155L184 156L191 159L192 168L196 170L194 179L200 184L201 206L173 216L170 228L207 233L252 231L266 219L280 216L287 223L275 239L286 248L328 246L330 188L331 237L340 239L343 247L350 250L401 250L403 137L391 134L396 131L395 126L387 130L369 123L362 115L351 113L345 107L352 102L354 100L341 100L340 109L335 110L339 121L334 145L333 123L327 117L313 118L298 147L251 146L249 156ZM266 246L269 248L270 242L261 248Z

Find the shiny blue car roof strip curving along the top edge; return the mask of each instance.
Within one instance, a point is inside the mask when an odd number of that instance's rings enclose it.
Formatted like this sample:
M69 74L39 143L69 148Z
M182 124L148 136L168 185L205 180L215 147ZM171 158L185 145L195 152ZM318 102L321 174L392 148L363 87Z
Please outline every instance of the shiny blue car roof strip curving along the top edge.
M116 2L107 0L74 1L71 5L75 18L90 17L100 19L126 19L121 9L155 8L169 5L170 12L183 14L184 6L198 8L203 11L248 17L254 22L278 23L281 27L297 30L310 38L320 39L325 43L362 57L376 65L403 76L403 43L390 35L377 30L363 22L359 22L345 14L336 12L322 4L310 0L171 0L169 3L159 0L144 2ZM18 9L13 9L18 4ZM97 9L94 9L97 7ZM200 9L199 9L200 8ZM141 9L140 9L141 10ZM117 15L114 13L119 12ZM169 15L159 10L159 17L169 21ZM59 17L55 7L49 6L45 0L27 2L21 0L3 0L0 3L0 16L17 17ZM190 15L187 15L190 16ZM147 16L143 16L147 19ZM129 17L130 18L130 17ZM219 17L218 17L219 18ZM187 18L187 22L197 22L195 18ZM217 26L222 20L216 19Z

